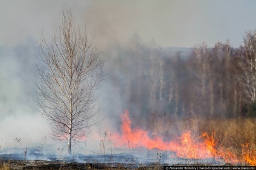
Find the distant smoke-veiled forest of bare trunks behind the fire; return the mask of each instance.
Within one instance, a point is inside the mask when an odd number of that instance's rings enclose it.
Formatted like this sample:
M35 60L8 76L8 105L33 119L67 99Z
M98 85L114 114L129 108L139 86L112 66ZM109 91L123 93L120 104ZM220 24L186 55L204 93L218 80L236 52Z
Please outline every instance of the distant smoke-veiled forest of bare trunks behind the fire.
M114 50L113 50L114 49ZM112 86L135 120L256 115L256 32L240 47L228 41L173 52L139 42L105 53Z

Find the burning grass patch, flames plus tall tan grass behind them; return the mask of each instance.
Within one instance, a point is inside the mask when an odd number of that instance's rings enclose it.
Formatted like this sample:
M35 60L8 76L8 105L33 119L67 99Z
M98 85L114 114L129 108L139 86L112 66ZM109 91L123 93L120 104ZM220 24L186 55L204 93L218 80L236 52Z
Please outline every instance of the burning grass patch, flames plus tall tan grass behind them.
M231 165L256 165L255 118L166 117L162 126L135 127L129 112L121 115L121 133L112 135L118 147L154 148L171 152L171 158L207 160ZM155 121L159 125L158 121ZM165 158L167 159L167 158Z

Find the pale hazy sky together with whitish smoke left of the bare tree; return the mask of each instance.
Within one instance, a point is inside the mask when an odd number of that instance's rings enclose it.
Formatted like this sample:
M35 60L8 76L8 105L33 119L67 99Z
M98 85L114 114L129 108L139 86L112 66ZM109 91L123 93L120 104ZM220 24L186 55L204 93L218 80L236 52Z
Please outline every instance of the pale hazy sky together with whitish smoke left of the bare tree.
M70 7L76 23L95 33L100 50L126 43L162 47L214 46L228 38L234 47L256 28L256 1L4 1L0 0L0 145L14 138L40 141L46 122L34 111L33 64L40 35L50 36ZM39 133L40 132L40 133ZM28 138L29 136L29 138Z

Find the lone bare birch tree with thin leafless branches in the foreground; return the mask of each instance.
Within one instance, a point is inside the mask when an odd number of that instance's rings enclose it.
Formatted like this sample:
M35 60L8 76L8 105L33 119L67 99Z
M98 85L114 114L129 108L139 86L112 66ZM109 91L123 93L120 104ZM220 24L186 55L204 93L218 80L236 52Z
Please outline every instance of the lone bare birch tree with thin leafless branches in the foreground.
M104 63L97 47L88 40L86 30L75 26L71 10L62 10L62 24L54 29L50 41L42 37L42 62L36 64L37 103L50 122L51 137L82 140L91 126L100 122L95 109L97 89L104 76Z

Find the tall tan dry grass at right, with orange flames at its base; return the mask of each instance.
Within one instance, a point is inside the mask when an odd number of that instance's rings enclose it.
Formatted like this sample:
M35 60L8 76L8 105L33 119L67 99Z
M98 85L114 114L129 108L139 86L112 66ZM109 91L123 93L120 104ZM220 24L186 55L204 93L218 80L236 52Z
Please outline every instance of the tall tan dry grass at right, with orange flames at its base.
M173 136L188 130L197 136L206 132L213 135L216 152L227 163L256 165L256 118L187 118L170 123L168 128L168 132L174 129Z

